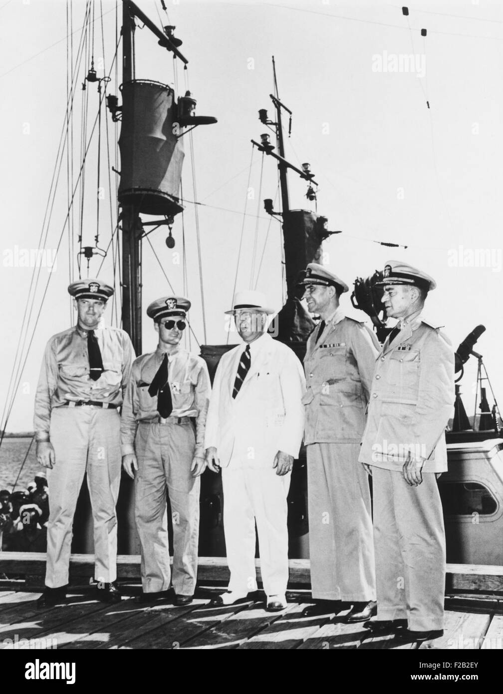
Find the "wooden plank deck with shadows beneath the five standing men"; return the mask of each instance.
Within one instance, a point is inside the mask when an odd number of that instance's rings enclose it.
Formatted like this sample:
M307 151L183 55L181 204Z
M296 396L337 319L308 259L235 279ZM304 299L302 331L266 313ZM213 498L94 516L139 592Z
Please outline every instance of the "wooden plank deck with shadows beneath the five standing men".
M289 591L287 609L268 613L263 593L235 607L210 606L222 590L198 589L187 607L168 602L144 607L134 599L139 586L129 585L122 588L122 602L110 607L94 600L89 589L80 589L69 593L65 605L37 610L40 592L4 589L0 648L22 648L20 639L31 640L31 648L58 649L503 648L503 598L494 595L448 596L442 638L397 645L392 636L372 638L361 625L346 624L346 611L302 617L302 609L312 602L309 591Z

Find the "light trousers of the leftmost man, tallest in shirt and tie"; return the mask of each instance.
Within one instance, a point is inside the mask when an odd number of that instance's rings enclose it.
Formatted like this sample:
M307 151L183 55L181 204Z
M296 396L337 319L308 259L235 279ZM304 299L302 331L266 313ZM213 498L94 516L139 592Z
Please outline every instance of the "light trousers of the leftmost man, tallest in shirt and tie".
M117 409L56 407L51 443L56 464L48 471L46 586L68 583L72 527L78 494L87 471L94 521L94 578L117 578L117 514L121 481L120 418Z

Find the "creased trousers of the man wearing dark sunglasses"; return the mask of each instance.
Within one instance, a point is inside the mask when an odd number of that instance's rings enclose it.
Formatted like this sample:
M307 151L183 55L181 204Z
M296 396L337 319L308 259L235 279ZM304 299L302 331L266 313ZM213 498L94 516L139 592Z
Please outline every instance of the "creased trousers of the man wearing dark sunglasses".
M166 487L173 523L173 588L196 587L201 477L192 477L196 438L191 422L139 423L135 439L135 518L142 544L144 593L167 591L171 581Z

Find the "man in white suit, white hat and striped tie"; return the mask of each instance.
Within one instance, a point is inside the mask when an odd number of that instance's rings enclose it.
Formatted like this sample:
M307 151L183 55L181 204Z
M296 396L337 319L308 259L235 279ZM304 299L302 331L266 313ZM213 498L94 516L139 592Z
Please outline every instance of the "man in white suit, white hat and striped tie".
M233 314L244 345L223 355L208 409L207 466L222 470L223 529L234 604L257 590L255 523L266 609L287 607L287 494L304 429L305 379L293 351L267 334L273 310L259 291L241 291Z

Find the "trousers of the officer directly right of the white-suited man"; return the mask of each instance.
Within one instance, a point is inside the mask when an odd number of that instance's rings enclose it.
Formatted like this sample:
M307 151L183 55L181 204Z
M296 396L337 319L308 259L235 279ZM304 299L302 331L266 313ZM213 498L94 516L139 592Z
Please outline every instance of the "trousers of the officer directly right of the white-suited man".
M311 591L318 600L375 600L368 475L359 443L307 446Z

